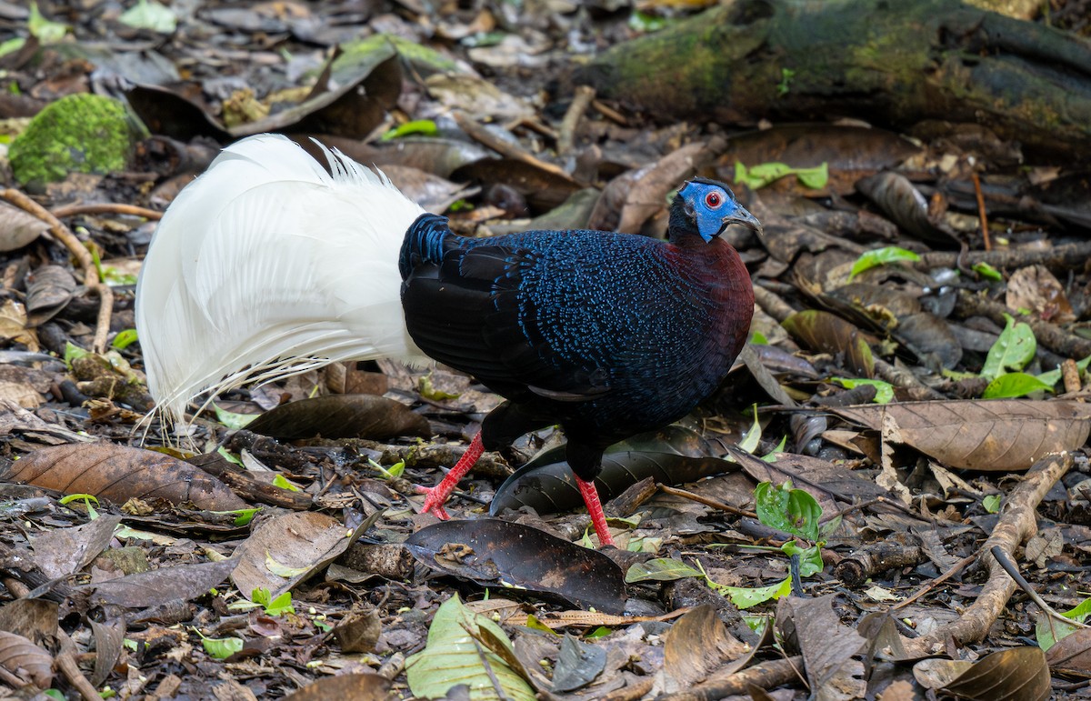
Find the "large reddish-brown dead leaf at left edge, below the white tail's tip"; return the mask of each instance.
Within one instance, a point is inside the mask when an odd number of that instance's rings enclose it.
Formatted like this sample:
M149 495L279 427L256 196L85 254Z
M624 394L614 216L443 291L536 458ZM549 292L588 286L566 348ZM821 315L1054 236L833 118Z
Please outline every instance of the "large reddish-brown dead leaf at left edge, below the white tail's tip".
M231 511L247 502L227 486L178 459L111 443L69 443L27 453L0 466L0 482L21 482L64 494L89 494L115 503L136 497L197 509Z

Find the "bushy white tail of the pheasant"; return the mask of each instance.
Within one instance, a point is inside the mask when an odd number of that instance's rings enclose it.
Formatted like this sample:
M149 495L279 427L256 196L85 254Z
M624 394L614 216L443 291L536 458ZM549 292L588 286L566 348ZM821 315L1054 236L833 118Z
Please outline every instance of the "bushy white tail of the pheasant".
M273 134L224 151L156 229L136 331L156 408L347 359L427 360L406 332L398 252L423 210L323 147Z

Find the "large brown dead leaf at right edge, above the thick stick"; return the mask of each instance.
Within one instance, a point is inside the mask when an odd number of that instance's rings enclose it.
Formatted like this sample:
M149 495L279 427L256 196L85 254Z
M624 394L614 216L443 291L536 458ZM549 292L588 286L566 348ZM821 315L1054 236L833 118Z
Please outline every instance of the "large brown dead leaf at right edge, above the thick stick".
M1091 431L1091 407L1075 401L967 400L844 406L831 412L880 430L952 467L1028 470L1046 453L1076 450Z

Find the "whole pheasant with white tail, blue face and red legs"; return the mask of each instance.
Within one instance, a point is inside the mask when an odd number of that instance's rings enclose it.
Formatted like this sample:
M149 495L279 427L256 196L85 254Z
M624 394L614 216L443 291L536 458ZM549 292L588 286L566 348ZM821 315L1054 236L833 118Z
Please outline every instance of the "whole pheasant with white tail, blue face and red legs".
M614 442L692 412L746 342L750 275L721 237L760 230L729 187L695 177L667 239L598 230L455 234L382 171L283 135L226 147L170 204L135 295L156 412L348 359L443 363L504 401L422 511L483 451L560 426L600 546L594 479ZM206 401L206 404L207 404ZM202 407L203 408L203 407Z

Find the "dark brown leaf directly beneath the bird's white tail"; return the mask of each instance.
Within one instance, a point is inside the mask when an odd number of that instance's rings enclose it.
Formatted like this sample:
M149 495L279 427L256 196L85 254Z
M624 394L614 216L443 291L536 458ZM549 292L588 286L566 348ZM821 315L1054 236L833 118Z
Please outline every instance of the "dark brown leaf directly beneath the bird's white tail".
M278 440L432 435L427 418L374 394L327 394L281 404L250 421L247 429Z

